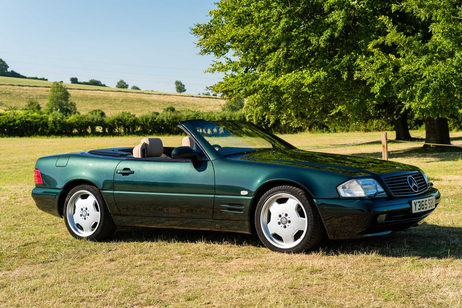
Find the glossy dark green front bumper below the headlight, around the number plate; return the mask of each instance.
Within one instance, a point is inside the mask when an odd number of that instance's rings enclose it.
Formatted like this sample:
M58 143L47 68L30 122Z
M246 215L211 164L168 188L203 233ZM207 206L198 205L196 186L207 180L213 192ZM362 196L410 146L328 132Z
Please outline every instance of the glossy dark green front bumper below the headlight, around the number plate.
M435 197L436 208L441 194L433 187L423 195L399 199L315 199L315 203L329 238L348 239L385 235L418 225L435 208L411 213L411 201L430 196ZM387 218L378 222L382 214Z

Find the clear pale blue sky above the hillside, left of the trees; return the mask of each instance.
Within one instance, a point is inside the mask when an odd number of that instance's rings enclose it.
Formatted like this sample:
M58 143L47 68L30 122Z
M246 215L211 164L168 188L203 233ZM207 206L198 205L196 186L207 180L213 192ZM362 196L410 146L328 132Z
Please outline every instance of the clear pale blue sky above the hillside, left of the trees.
M206 23L212 1L0 1L0 58L25 76L70 83L101 80L115 87L188 94L204 92L223 74L203 71L189 27Z

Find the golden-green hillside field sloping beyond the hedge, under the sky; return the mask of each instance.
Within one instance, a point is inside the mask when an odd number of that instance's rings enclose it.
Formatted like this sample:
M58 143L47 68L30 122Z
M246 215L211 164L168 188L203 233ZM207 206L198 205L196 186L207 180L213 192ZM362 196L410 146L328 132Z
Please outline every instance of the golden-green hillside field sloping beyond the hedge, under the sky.
M0 109L9 106L23 108L31 97L45 107L50 85L51 82L42 80L0 77ZM65 83L65 85L71 94L70 100L76 103L80 113L102 109L108 115L127 110L139 115L149 111L162 112L162 109L168 106L174 106L177 110L221 111L225 103L216 96L116 89L72 83Z

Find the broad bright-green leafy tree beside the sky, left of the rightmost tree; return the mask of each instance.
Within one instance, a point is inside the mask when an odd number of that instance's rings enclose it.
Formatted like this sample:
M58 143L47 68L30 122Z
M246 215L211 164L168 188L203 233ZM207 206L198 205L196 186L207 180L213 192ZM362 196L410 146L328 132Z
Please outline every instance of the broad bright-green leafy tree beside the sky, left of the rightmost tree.
M394 3L222 0L209 12L211 20L195 25L192 33L200 54L218 58L207 71L225 72L209 89L226 99L247 98L245 108L254 118L300 126L341 115L386 114L408 137L406 106L398 93L373 93L354 77L358 61L372 54L369 43L386 35L383 16L403 30L421 24L412 14L392 12Z

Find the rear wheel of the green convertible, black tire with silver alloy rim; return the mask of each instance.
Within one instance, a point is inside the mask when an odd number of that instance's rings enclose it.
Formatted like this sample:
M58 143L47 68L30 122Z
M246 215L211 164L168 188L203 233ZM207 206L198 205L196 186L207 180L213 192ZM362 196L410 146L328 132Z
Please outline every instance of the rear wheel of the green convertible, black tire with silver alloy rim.
M67 231L78 239L102 241L117 229L103 195L92 185L79 185L69 192L63 216Z

